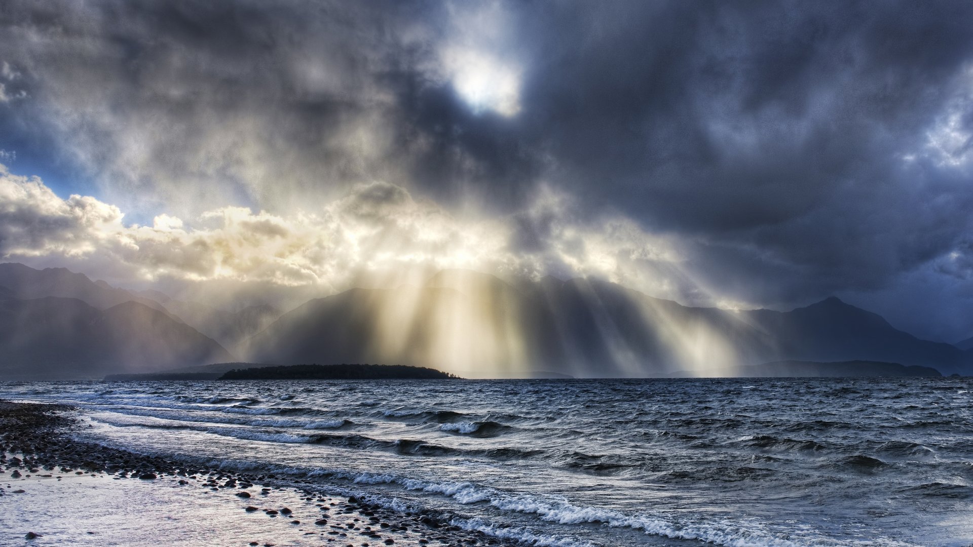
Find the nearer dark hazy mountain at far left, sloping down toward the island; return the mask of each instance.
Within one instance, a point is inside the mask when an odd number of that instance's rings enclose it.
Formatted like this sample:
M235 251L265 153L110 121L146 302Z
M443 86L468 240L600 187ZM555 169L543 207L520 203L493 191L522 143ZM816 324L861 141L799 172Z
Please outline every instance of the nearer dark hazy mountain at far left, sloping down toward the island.
M185 323L139 302L98 310L76 298L0 301L0 378L83 380L233 356Z

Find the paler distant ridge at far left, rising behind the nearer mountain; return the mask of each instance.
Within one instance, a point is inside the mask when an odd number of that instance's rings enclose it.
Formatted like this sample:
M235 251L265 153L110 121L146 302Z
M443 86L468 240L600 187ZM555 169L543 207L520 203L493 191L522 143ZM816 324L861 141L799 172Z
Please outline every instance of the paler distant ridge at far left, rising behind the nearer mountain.
M112 287L85 274L75 274L65 268L34 270L16 262L0 264L0 286L6 287L9 298L30 300L49 296L75 298L98 310L108 310L124 302L138 302L149 308L168 313L158 302L136 296L124 289ZM176 317L173 319L178 320Z

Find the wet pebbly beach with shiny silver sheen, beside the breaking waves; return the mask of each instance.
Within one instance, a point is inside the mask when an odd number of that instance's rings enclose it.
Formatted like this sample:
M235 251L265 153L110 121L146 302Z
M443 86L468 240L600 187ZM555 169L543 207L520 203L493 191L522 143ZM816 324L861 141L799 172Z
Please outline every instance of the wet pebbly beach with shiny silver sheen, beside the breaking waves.
M0 505L15 508L0 511L0 529L7 530L0 542L519 544L432 514L395 511L309 485L281 486L272 474L200 468L78 441L70 436L78 425L73 412L66 405L0 400ZM129 514L131 506L138 509Z

